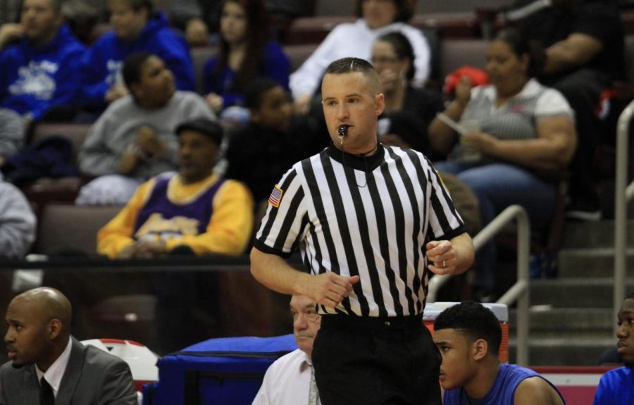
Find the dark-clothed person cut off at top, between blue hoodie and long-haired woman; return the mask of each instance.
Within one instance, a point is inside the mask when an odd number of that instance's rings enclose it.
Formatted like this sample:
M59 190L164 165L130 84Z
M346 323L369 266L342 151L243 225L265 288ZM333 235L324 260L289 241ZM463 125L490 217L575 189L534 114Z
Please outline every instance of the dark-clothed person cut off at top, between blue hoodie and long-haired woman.
M218 32L220 0L179 0L170 8L170 23L181 30L189 46L208 46L209 32Z

